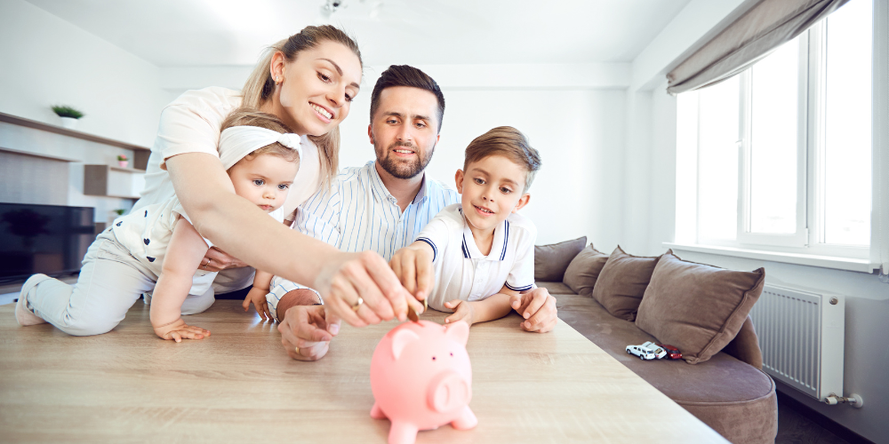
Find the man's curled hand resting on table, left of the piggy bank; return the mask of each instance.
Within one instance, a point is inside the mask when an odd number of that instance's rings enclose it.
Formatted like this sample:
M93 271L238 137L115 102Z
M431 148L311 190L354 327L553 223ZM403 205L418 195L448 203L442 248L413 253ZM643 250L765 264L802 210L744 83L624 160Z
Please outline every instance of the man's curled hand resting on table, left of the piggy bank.
M294 305L278 324L281 344L295 360L317 361L324 358L330 342L340 332L340 319L324 305Z

